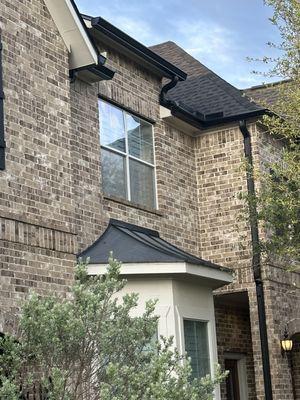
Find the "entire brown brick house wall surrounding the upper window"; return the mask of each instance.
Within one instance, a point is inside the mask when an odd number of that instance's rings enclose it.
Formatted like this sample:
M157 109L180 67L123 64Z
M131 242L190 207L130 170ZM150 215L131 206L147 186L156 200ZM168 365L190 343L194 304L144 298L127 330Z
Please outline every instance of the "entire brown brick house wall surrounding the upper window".
M77 81L70 90L67 52L42 0L1 1L0 30L7 141L6 170L0 171L0 330L30 288L42 294L68 290L77 249L93 243L110 217L122 219L157 229L175 245L235 269L235 282L221 292L247 289L250 315L217 309L220 361L225 343L245 351L248 385L255 379L256 397L263 399L250 231L238 219L243 208L238 195L246 190L238 126L192 138L164 124L160 78L103 44L117 69L114 80L92 86ZM158 210L103 195L98 93L156 121ZM277 153L257 125L250 130L261 168L261 159ZM264 269L274 400L291 399L279 339L284 324L299 315L299 295L290 294L298 276L287 277L278 266Z

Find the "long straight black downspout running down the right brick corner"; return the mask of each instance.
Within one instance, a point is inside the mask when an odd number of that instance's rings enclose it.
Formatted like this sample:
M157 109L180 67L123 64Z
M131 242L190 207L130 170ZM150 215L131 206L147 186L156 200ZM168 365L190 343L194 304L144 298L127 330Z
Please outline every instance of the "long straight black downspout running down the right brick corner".
M271 370L270 370L270 359L269 359L269 345L268 345L268 333L266 324L266 309L263 282L261 278L261 254L259 246L259 234L258 234L258 219L257 219L257 208L255 202L255 185L253 178L253 158L252 158L252 146L251 136L248 131L245 120L239 122L240 131L244 138L244 154L247 160L247 191L249 196L249 214L250 214L250 229L251 229L251 242L252 242L252 269L253 276L256 286L256 297L257 297L257 309L258 309L258 321L259 321L259 333L262 353L262 365L264 375L264 388L265 388L265 399L272 400L272 381L271 381Z

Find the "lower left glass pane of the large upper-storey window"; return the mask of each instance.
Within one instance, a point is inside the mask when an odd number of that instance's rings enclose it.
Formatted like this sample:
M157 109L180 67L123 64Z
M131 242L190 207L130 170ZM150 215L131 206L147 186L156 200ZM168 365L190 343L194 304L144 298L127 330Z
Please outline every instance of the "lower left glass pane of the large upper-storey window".
M105 149L101 155L104 193L126 199L125 157Z

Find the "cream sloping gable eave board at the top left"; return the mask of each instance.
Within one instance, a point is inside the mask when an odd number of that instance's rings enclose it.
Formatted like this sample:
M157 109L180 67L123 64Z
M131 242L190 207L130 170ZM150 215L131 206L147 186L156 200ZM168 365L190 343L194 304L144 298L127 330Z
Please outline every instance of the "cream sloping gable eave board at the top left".
M44 0L70 53L70 69L98 64L97 52L70 0Z

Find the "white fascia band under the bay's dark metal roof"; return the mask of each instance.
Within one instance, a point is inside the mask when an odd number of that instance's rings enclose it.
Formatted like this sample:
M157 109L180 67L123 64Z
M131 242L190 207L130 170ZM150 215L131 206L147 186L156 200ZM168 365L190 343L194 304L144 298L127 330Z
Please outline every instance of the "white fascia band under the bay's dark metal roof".
M107 269L107 264L89 264L89 275L103 275ZM185 262L177 263L136 263L136 264L122 264L121 275L186 275L195 278L209 279L211 281L223 282L223 284L232 282L232 275L217 268L210 268L205 265L194 265Z

